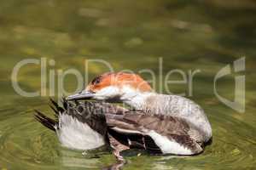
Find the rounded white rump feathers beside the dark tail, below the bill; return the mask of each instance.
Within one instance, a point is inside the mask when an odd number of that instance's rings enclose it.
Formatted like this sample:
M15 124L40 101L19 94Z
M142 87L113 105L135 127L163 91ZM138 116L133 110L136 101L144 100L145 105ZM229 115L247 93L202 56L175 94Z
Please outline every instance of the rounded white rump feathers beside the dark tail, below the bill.
M91 150L105 144L100 133L67 114L60 114L59 129L56 133L61 144L67 148Z

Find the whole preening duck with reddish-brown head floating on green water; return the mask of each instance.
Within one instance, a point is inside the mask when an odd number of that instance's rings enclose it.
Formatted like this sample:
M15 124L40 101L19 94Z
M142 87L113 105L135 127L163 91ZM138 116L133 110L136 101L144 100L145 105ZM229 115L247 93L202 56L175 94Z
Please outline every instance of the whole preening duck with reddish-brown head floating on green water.
M63 99L62 107L53 99L51 103L56 119L40 111L35 117L55 131L62 145L93 150L107 144L118 161L125 160L123 150L133 148L194 156L212 140L211 124L200 105L182 96L157 94L134 73L104 73Z

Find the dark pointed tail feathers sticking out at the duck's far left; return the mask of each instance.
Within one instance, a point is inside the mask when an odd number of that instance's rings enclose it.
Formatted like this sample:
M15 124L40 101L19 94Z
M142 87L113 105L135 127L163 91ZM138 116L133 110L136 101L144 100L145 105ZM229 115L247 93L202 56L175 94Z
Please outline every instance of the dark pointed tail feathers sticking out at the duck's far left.
M44 127L49 128L50 130L55 131L56 127L58 125L58 122L56 122L55 120L53 120L52 118L49 118L48 116L45 116L44 113L35 110L35 118L38 122L40 122L42 125L44 125Z

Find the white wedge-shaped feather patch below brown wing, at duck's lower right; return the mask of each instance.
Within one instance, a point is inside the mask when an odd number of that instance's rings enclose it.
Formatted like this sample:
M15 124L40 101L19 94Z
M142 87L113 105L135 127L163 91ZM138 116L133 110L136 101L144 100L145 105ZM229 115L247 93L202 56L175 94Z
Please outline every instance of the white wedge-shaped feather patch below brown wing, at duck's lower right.
M160 150L164 154L176 154L176 155L193 155L193 152L183 145L178 144L175 141L168 139L166 136L162 136L159 133L154 132L154 130L149 131L148 136L154 139L154 143L160 147Z

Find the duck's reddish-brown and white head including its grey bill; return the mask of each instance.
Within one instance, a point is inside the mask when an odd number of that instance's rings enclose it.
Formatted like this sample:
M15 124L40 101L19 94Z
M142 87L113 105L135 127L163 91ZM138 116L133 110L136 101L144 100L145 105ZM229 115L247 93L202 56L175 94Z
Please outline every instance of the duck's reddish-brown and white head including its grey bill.
M95 77L79 94L70 95L67 99L96 99L119 102L130 100L137 94L145 94L152 91L148 82L137 74L125 72L105 73Z

